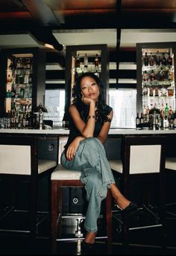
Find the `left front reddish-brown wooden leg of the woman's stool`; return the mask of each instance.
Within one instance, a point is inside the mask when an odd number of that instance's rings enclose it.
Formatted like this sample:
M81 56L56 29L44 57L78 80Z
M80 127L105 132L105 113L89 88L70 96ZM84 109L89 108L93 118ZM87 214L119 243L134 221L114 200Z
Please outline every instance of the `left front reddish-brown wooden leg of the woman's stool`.
M57 182L51 181L51 253L57 253L57 210L58 210Z

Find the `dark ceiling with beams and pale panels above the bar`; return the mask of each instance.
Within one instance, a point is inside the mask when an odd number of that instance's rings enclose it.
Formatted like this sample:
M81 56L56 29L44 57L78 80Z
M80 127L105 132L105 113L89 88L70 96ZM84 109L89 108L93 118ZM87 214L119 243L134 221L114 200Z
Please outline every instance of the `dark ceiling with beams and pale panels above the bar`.
M0 1L0 48L48 43L64 54L68 45L117 49L175 40L176 0Z

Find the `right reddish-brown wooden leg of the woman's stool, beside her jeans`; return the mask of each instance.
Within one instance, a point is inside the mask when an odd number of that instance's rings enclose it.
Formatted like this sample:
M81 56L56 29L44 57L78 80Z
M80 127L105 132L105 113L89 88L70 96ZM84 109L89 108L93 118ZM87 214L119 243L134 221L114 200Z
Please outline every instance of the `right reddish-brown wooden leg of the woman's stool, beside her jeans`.
M106 198L106 221L107 221L107 254L111 254L111 242L112 242L112 196L110 190L107 190L107 198Z

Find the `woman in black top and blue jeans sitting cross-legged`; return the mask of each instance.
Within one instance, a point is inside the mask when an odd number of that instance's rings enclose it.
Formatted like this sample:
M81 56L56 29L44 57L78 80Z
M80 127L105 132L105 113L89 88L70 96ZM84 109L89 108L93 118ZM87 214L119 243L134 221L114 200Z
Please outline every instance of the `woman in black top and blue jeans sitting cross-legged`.
M100 79L91 72L83 73L75 84L74 101L69 106L70 133L61 163L67 169L81 170L81 181L87 191L87 231L84 244L95 243L97 219L101 201L110 189L116 205L124 211L134 210L131 203L116 187L104 151L103 143L113 119L113 109L104 100Z

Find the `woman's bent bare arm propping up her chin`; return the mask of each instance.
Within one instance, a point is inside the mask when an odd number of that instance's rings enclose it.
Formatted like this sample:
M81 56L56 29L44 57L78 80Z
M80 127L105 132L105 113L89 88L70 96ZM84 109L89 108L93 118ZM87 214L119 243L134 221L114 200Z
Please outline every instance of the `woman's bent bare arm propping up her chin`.
M93 137L94 129L95 129L95 102L92 99L84 98L84 102L89 104L89 118L87 123L81 119L81 116L75 107L75 105L70 105L69 113L72 116L73 122L75 123L76 128L78 131L81 132L82 136Z

